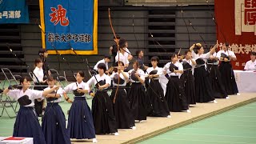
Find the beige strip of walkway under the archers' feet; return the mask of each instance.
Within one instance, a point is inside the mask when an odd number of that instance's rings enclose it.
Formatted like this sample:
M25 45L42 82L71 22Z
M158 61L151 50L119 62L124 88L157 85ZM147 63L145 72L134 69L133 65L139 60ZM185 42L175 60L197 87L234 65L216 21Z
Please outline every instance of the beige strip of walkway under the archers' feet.
M168 130L173 130L180 126L185 126L192 122L197 122L203 118L209 118L215 114L232 110L235 107L256 102L256 94L230 95L230 99L216 99L218 103L198 103L190 107L191 113L173 112L171 118L147 118L142 123L136 123L136 130L118 130L119 135L97 135L98 144L101 143L135 143L162 134ZM72 141L72 143L89 143L91 140L82 142Z

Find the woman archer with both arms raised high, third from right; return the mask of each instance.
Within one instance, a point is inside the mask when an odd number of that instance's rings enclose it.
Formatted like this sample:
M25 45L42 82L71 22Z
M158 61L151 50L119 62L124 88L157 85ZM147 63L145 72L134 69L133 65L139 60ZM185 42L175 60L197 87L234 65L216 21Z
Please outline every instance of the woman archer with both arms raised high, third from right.
M190 51L192 52L192 57L196 59L196 67L194 69L194 83L195 83L195 94L197 97L197 102L214 102L214 91L210 84L210 76L208 71L206 70L206 62L205 60L210 58L210 54L214 54L214 50L218 47L216 44L210 52L204 54L204 49L200 43L194 44L190 47ZM196 53L194 52L194 48L196 48Z

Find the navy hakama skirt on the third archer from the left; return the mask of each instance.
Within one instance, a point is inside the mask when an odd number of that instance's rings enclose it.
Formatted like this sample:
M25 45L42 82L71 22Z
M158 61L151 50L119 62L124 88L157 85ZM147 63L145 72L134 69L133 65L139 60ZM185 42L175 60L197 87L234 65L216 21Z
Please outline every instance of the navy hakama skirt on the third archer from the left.
M93 117L85 97L74 97L74 102L70 108L67 129L70 138L95 138Z

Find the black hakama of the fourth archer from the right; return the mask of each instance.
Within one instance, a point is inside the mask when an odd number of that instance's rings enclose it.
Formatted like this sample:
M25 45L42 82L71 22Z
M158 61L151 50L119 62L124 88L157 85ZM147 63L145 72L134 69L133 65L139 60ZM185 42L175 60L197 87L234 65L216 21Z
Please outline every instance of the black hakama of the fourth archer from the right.
M194 87L194 75L192 74L192 66L189 63L183 64L184 70L181 79L184 83L184 90L186 96L186 102L191 105L196 104L195 87Z

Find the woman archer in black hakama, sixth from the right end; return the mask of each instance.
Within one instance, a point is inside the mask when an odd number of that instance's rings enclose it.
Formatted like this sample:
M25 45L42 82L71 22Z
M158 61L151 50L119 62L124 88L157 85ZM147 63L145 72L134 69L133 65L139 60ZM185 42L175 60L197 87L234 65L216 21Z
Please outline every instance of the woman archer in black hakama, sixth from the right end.
M152 113L149 116L170 118L170 110L166 98L164 97L162 86L159 82L159 75L162 74L162 68L158 67L158 62L158 57L152 57L152 67L149 67L146 70L146 73L149 74L150 78L150 84L146 90L146 94L150 97L150 102L152 102L153 107Z

